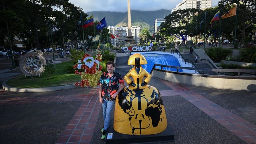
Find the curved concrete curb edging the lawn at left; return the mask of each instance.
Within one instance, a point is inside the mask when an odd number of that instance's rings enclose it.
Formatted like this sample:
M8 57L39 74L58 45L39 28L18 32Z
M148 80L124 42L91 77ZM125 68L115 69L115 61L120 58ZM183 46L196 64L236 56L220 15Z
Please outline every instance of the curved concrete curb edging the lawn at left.
M72 89L76 88L76 86L73 85L63 85L63 86L53 86L53 87L40 87L40 88L18 88L18 87L12 87L6 85L5 80L2 83L2 88L7 91L12 91L12 92L47 92L47 91L58 91L58 90L63 90L63 89Z

